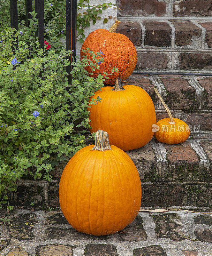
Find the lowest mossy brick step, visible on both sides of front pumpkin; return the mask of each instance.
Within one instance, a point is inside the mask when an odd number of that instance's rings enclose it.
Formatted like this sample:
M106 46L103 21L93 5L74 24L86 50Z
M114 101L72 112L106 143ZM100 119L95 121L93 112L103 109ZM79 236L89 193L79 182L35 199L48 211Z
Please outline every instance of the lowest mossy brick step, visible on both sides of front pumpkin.
M160 143L153 137L144 147L126 153L139 172L141 207L212 208L212 132L195 134L178 145ZM32 177L20 180L17 192L11 192L11 204L59 207L59 180L66 163L55 166L50 182Z

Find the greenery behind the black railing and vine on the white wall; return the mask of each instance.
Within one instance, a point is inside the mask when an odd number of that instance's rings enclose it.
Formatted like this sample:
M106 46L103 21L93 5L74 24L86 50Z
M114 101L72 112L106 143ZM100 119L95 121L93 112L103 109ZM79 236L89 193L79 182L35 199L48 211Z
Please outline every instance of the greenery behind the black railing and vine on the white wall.
M1 28L10 25L10 1L0 0L0 6ZM94 25L96 20L101 19L99 14L102 13L102 10L105 10L108 7L116 8L116 5L112 3L90 5L89 0L79 0L77 4L77 36L80 42L84 41L83 38L85 38L85 28L90 26L90 22L92 22ZM87 8L86 12L82 12L82 8ZM22 28L23 24L25 24L25 1L23 0L18 0L18 13L19 28ZM108 19L112 19L112 17L109 16L108 18L105 18L103 22L106 23ZM57 33L61 33L61 31L63 31L65 35L65 0L44 1L44 22L45 26L49 28L49 30L52 28L54 30L56 29ZM45 35L45 37L48 40L50 38L48 33Z

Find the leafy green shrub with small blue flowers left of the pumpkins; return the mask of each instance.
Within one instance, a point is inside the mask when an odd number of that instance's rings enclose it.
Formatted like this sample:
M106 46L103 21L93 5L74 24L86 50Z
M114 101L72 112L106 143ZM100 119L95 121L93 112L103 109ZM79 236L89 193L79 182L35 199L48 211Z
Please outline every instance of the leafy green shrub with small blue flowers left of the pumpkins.
M84 70L87 65L99 68L103 58L97 52L93 62L86 56L72 62L69 85L65 67L70 65L71 52L55 48L54 41L56 45L59 41L54 36L50 50L38 49L37 41L30 43L34 21L22 33L7 27L0 34L0 207L7 203L8 211L12 209L8 190L16 191L17 180L27 174L49 180L51 154L57 154L60 162L85 146L87 107L95 104L88 99L106 77L99 74L94 79ZM76 133L76 129L82 131Z

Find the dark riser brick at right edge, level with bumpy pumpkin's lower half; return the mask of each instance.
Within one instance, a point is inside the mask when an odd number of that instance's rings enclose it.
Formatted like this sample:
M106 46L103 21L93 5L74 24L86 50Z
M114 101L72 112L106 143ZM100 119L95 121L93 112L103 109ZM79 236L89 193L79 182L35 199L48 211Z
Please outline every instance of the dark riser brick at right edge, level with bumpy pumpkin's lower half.
M212 69L212 53L186 53L179 56L180 69Z

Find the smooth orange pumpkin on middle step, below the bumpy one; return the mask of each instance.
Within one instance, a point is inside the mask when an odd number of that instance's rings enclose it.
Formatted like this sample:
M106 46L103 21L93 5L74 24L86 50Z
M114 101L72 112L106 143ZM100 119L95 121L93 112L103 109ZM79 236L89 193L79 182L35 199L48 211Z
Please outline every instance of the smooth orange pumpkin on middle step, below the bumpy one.
M102 100L88 108L91 133L108 132L111 145L132 150L146 145L153 137L152 124L156 123L155 107L142 88L124 85L117 78L114 88L101 88L90 98Z

